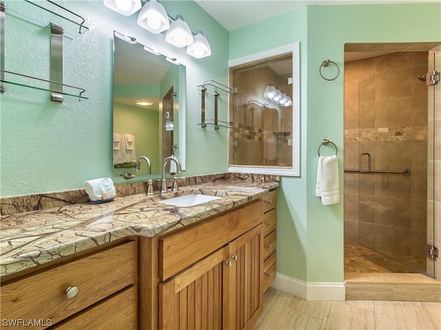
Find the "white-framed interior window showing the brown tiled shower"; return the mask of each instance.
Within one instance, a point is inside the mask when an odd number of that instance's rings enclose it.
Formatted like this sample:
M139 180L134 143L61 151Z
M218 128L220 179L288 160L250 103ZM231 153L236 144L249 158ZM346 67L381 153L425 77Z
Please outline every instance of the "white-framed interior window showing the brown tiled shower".
M239 92L229 109L233 122L229 170L297 176L300 135L294 53L252 60L230 61L230 83Z

